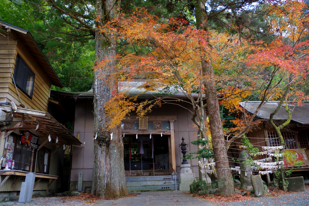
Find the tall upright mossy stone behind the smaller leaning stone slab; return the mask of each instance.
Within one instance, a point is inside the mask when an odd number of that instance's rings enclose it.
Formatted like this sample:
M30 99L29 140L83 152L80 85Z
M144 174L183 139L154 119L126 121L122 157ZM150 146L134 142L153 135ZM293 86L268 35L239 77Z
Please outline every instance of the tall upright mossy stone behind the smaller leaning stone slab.
M241 151L239 153L239 166L240 166L240 189L252 190L251 184L251 168L250 166L243 163L245 160L249 159L248 151Z

